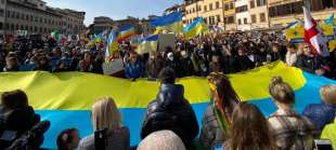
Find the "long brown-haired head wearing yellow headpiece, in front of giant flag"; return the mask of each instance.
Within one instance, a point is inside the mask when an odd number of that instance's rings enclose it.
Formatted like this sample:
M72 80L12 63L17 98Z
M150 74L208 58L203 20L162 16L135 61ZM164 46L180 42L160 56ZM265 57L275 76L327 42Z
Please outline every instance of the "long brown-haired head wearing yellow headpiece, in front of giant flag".
M240 100L229 78L220 72L212 72L208 76L211 97L217 101L221 101L221 106L230 106L229 100Z

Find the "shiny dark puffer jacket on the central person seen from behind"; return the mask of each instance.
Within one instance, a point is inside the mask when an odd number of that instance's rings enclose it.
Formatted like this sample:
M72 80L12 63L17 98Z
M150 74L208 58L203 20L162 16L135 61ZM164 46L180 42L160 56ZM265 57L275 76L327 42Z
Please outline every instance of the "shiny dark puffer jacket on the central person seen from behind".
M183 94L182 85L160 86L156 99L147 107L141 138L156 131L169 129L183 140L186 149L194 149L193 139L197 137L199 128L196 115Z

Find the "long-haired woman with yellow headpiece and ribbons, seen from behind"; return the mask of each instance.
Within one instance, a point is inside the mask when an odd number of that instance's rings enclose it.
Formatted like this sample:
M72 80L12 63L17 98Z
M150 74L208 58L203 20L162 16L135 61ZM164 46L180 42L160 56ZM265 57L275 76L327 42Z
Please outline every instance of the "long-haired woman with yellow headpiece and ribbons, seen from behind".
M230 120L241 99L227 76L212 72L208 77L211 103L203 117L201 141L204 147L221 145L229 136Z

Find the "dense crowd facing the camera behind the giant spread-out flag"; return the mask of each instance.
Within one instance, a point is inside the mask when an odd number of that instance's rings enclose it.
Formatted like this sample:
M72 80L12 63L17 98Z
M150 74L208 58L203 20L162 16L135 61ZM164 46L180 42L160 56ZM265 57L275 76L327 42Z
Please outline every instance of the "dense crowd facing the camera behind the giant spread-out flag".
M235 73L282 60L288 66L335 79L336 51L329 57L314 55L307 44L290 44L280 33L243 32L198 37L192 40L177 38L176 45L159 52L139 55L134 46L119 44L128 79L157 79L158 72L170 67L178 78L210 72ZM13 43L0 43L0 71L51 72L83 71L103 73L105 44L88 44L69 40L60 44L51 37L17 38Z

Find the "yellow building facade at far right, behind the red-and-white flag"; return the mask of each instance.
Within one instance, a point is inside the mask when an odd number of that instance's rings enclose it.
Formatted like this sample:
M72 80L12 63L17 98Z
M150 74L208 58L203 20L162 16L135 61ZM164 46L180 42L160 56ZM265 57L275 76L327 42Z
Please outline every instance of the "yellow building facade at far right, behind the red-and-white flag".
M324 21L336 13L336 0L268 0L270 27L279 28L302 21L303 5L310 9L314 19Z

